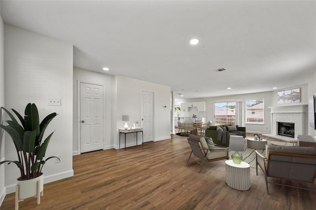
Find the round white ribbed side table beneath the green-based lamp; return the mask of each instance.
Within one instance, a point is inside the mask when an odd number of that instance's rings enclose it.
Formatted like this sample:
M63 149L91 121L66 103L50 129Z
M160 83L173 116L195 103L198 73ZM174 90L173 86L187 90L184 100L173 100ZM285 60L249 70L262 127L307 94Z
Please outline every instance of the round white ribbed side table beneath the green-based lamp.
M250 188L250 165L242 162L235 164L233 160L225 161L226 183L237 190Z

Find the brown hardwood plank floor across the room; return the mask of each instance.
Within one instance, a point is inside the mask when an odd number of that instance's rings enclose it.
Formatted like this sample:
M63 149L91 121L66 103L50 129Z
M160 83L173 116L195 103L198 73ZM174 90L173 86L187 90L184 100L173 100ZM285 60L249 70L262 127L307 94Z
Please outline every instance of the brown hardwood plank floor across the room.
M170 140L148 142L126 151L77 155L73 157L73 177L44 184L40 205L36 198L28 198L19 209L315 209L315 191L269 184L268 195L264 175L259 171L257 176L255 168L250 169L250 189L235 190L225 182L224 161L206 163L199 174L200 165L192 159L186 163L190 152L186 137L172 135ZM12 209L14 193L6 195L1 205L1 210Z

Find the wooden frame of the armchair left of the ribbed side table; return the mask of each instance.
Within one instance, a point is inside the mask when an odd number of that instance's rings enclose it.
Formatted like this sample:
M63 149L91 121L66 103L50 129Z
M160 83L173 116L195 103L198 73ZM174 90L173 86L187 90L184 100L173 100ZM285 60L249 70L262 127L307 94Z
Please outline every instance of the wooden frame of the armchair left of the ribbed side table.
M229 155L228 155L228 147L225 148L203 148L201 143L198 140L193 140L193 139L188 139L188 143L191 146L191 153L190 156L188 158L187 163L189 163L189 160L191 158L192 153L197 156L198 158L200 158L202 160L202 163L198 162L195 160L195 162L197 162L198 164L201 165L201 168L199 170L199 173L201 173L203 165L205 162L212 162L212 161L217 161L217 160L225 160L225 159L229 159ZM207 152L205 153L204 150L207 150ZM207 154L209 152L212 151L216 151L216 150L227 150L227 155L225 157L220 157L220 158L215 158L215 159L207 159Z

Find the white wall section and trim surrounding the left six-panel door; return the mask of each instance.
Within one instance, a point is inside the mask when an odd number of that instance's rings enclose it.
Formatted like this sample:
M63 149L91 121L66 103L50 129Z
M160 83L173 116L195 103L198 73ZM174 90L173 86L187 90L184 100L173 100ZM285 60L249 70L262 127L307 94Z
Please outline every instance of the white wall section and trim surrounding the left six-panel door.
M106 75L103 73L98 73L90 70L82 70L79 68L74 68L74 120L73 120L73 155L80 154L79 149L79 134L78 134L78 123L80 123L80 119L78 118L78 81L89 83L89 84L97 84L103 86L103 113L104 113L104 149L110 149L114 147L113 136L111 135L111 127L112 127L112 83L114 80L114 76Z

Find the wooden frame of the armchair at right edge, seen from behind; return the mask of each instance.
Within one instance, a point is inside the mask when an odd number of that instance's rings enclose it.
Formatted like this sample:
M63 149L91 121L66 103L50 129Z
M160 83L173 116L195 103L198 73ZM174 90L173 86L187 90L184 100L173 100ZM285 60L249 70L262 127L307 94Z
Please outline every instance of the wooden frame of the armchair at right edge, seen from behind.
M282 153L282 152L269 152L268 157L266 158L262 154L260 154L257 150L256 152L256 174L258 175L258 165L263 171L265 175L265 180L266 180L266 187L267 187L267 193L269 195L269 188L268 188L268 183L270 184L276 184L276 185L282 185L282 186L287 186L287 187L294 187L294 188L299 188L299 189L305 189L305 190L313 190L316 191L315 189L311 188L305 188L305 187L297 187L293 185L287 185L287 184L281 184L281 183L276 183L276 182L271 182L268 181L268 177L276 177L276 178L282 178L286 180L294 180L294 181L302 181L302 182L308 182L308 183L314 183L315 177L316 177L316 164L309 164L309 163L302 163L302 162L289 162L289 161L280 161L280 160L274 160L277 156L283 156L283 157L293 157L293 158L307 158L307 159L314 159L316 160L316 155L304 155L304 154L292 154L292 153ZM259 163L261 162L261 164ZM276 172L273 173L273 175L270 174L270 169L271 166L276 165L276 164L286 164L291 167L299 167L300 165L303 167L309 167L310 173L308 175L309 178L305 177L299 178L297 176L293 175L288 175L287 177L283 177L282 175L277 175ZM277 167L274 168L274 170ZM314 168L314 169L313 169ZM282 170L279 167L279 170ZM304 176L304 175L303 175Z

